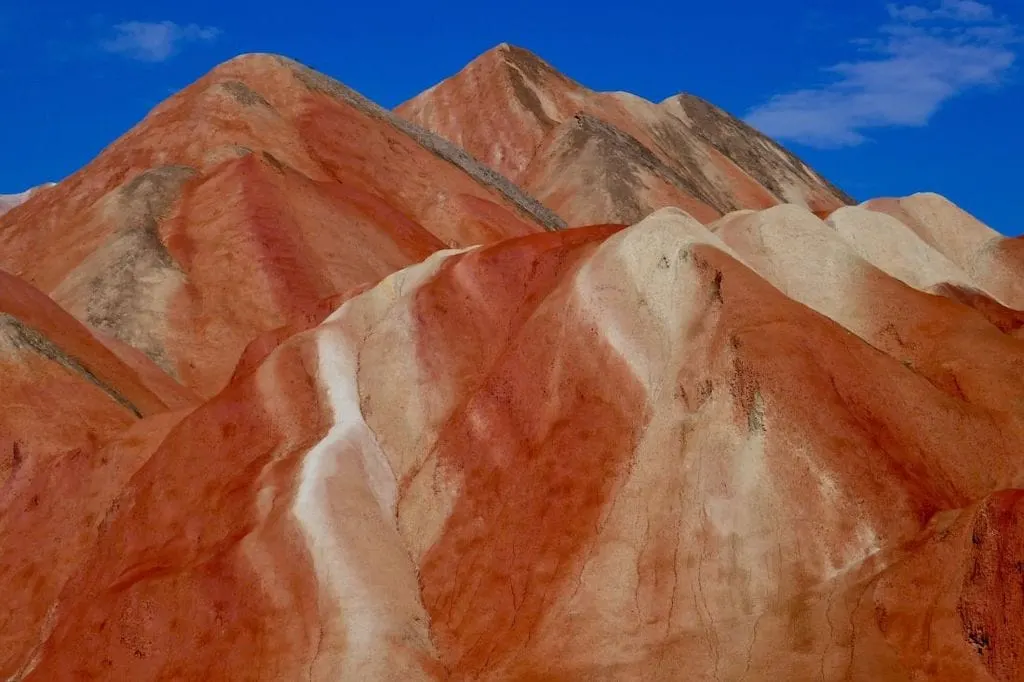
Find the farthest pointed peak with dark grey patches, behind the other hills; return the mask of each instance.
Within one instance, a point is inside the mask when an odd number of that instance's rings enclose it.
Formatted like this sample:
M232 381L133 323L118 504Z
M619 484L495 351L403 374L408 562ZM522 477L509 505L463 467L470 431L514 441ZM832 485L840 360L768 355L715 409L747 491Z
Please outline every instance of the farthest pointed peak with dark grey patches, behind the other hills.
M776 142L692 95L594 92L501 45L397 108L519 182L571 224L666 206L702 222L780 202L824 216L852 200Z

